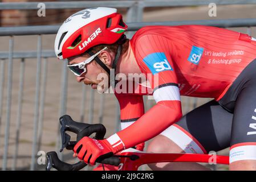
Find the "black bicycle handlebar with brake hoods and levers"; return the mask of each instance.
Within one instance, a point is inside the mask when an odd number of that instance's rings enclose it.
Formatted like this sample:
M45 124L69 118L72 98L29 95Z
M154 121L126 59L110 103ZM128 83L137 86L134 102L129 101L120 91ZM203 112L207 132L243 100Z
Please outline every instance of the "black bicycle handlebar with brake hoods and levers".
M104 125L90 125L87 123L75 122L70 117L70 115L63 115L62 117L60 117L59 121L61 125L60 134L62 136L62 147L60 148L60 152L62 152L64 148L66 148L67 150L73 150L75 144L83 137L89 137L91 134L96 133L94 137L95 139L103 139L106 133ZM71 131L72 133L77 134L76 141L70 141L71 137L66 133L66 131ZM47 152L47 160L47 171L50 171L52 167L59 171L78 171L87 166L87 164L82 161L75 164L68 164L62 162L54 151ZM111 158L103 159L96 162L118 166L120 163L120 159L112 156Z

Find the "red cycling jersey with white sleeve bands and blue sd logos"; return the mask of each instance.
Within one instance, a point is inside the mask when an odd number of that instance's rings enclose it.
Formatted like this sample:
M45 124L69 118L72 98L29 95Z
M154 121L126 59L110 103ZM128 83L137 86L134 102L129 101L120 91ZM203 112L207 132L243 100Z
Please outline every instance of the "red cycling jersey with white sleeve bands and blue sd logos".
M209 26L148 26L130 45L141 72L158 78L149 79L157 104L144 113L142 94L116 94L125 129L108 140L120 148L151 139L177 122L180 95L220 100L256 58L254 38Z

